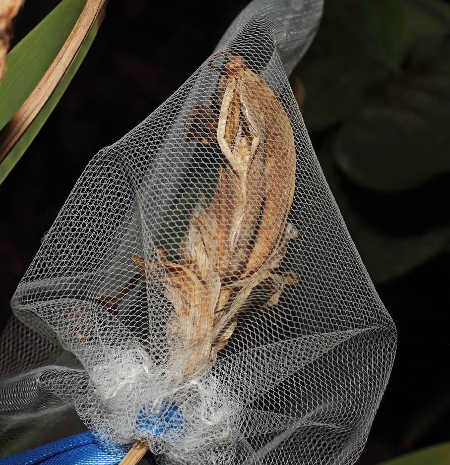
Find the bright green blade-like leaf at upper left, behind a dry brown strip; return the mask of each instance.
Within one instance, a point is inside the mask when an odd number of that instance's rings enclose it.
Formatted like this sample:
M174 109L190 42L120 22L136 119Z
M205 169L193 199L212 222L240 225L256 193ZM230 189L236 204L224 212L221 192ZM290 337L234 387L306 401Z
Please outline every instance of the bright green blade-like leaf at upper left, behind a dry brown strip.
M52 64L75 25L85 3L85 0L63 0L8 54L8 69L0 85L0 122L2 125L6 124L10 117L20 108ZM97 30L98 20L93 25L55 92L27 132L0 164L0 183L18 162L56 107L86 56ZM33 71L26 71L29 67ZM26 78L23 74L28 74L29 77ZM12 82L13 79L16 79L15 84ZM26 91L24 88L26 88Z

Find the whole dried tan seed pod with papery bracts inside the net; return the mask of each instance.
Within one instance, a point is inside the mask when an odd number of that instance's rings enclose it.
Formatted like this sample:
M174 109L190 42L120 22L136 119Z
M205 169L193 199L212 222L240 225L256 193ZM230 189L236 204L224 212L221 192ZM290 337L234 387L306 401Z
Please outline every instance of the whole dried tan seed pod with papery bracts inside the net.
M217 121L201 107L201 115L209 118L207 128L217 127L226 157L211 203L199 198L180 244L179 263L165 262L162 249L158 263L130 254L142 278L160 286L174 306L167 340L171 362L186 376L215 359L256 288L268 292L262 305L274 305L283 287L297 280L292 271L272 273L288 240L297 235L286 224L295 187L292 128L264 81L243 58L227 56ZM200 110L193 113L200 115ZM208 143L208 130L196 117L191 132Z

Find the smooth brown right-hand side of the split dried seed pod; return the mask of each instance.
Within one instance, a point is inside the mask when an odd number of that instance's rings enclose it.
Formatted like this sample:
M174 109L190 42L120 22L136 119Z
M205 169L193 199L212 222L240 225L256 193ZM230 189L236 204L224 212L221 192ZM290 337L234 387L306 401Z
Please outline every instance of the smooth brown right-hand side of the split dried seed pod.
M239 65L242 68L237 67ZM240 75L237 78L230 76L228 80L232 82L236 79L236 92L244 118L263 145L259 149L263 156L263 204L258 216L258 232L242 273L244 277L262 266L280 243L294 197L296 153L292 127L278 98L247 67L243 58L234 57L227 63L226 69L231 66L232 69L238 69ZM249 170L249 177L251 175L252 171ZM258 178L254 179L255 189L259 185L258 181ZM252 181L249 182L248 189L251 188Z

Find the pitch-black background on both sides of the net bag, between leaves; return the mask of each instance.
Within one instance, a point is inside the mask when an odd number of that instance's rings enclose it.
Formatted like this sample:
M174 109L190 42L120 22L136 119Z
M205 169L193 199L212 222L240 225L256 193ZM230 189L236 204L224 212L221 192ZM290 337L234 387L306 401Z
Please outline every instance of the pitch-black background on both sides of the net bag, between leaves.
M26 0L16 20L13 44L58 3ZM40 238L50 229L88 161L181 86L246 4L236 0L109 2L97 38L72 83L0 185L1 327L11 314L9 300L37 252ZM307 59L305 66L312 61ZM304 86L299 81L302 72L299 65L291 77L301 105L303 93L306 102L309 95L308 78ZM307 118L306 122L308 126ZM321 156L323 147L340 124L342 121L310 130L323 164L328 163ZM401 236L405 229L425 231L430 224L450 225L450 179L445 173L408 191L389 194L371 191L333 163L330 166L339 179L336 192L333 186L337 184L331 183L338 203L344 191L354 199L353 207L366 223L376 224L379 230L394 224L391 229L396 231L389 233ZM329 173L328 165L324 172ZM397 326L398 351L360 465L377 464L450 439L449 265L447 245L422 264L377 285Z

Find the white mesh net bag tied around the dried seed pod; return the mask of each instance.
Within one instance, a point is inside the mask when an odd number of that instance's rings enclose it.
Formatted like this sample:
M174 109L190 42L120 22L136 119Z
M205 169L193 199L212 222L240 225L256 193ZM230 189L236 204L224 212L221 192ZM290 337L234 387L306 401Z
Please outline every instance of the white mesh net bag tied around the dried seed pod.
M253 1L100 151L12 298L3 437L67 406L164 464L352 464L395 328L287 76L321 0Z

